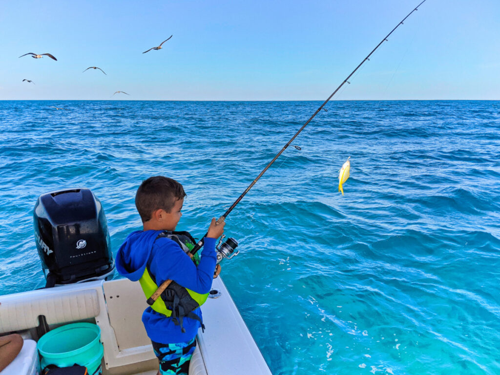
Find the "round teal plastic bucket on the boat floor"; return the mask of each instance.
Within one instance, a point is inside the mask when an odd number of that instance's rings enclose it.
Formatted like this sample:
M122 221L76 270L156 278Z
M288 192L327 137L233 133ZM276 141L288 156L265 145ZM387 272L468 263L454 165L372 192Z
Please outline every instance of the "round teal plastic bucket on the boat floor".
M92 323L72 323L48 331L37 343L42 368L79 364L93 374L100 366L104 348L99 341L100 328ZM100 373L100 371L99 371Z

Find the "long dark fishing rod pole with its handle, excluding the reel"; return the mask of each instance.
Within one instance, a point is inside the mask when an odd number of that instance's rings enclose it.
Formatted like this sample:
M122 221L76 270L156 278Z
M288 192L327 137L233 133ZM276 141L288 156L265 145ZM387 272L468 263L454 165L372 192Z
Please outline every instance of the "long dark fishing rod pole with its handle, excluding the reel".
M356 66L356 68L354 70L352 70L352 72L347 75L347 77L342 81L342 83L340 83L340 85L335 89L335 91L333 91L331 93L330 96L328 96L328 98L319 106L319 108L316 109L316 111L312 114L312 116L309 117L309 119L307 121L305 121L305 123L302 125L302 127L300 129L298 129L298 131L295 133L295 135L293 135L291 137L291 139L283 146L283 148L281 148L281 150L276 154L276 156L274 156L272 158L271 161L269 161L269 163L265 166L264 169L262 169L262 171L258 174L258 176L248 185L248 187L245 189L245 191L243 191L243 193L234 201L234 203L232 203L232 205L227 209L227 211L224 212L224 214L222 216L220 216L216 223L219 224L221 223L222 221L224 221L224 219L226 218L226 216L229 214L229 212L232 211L232 209L236 206L236 204L239 203L239 201L243 198L243 196L246 195L246 193L248 192L248 190L250 190L252 188L252 186L255 184L255 182L258 181L258 179L262 176L262 174L265 173L265 171L267 169L269 169L269 167L272 165L272 163L274 161L276 161L276 159L279 157L279 155L281 155L281 153L283 153L283 151L291 144L291 142L293 141L293 139L295 139L297 137L297 135L304 129L305 126L307 126L307 124L314 118L314 116L316 114L318 114L318 112L323 108L323 106L325 106L325 104L332 98L332 96L334 94L337 93L337 91L340 89L340 87L342 87L344 85L344 83L349 83L350 82L348 81L348 79L352 76L352 74L354 74L356 72L357 69L359 69L359 67L366 61L366 60L369 60L369 57L372 55L372 53L384 42L384 41L388 41L387 38L389 37L389 35L397 28L399 27L399 25L403 24L404 20L406 18L409 17L409 15L411 13L413 13L415 10L418 10L418 7L423 4L425 2L425 0L423 0L422 2L420 2L417 6L415 6L415 8L413 10L411 10L377 45L375 48L373 48L373 50L368 53L368 55L366 57L364 57L364 59L359 63L359 65ZM207 233L205 233L205 235L203 236L203 238L206 236ZM198 243L196 243L194 245L194 247L189 251L189 256L192 257L192 255L194 255L196 253L196 251L198 251L201 246L203 246L203 238L201 238ZM156 289L156 291L151 295L151 297L149 297L149 299L147 300L147 303L149 305L152 305L154 303L154 301L160 296L160 294L163 292L163 290L166 289L166 287L170 284L170 282L172 282L172 280L166 280L164 281L159 287L158 289Z

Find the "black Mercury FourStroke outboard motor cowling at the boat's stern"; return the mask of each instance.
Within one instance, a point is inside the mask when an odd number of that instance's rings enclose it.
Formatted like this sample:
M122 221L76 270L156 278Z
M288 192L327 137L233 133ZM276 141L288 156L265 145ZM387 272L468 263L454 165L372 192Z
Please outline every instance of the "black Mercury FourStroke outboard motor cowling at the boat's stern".
M114 272L104 210L89 189L41 194L33 225L46 286L107 278Z

